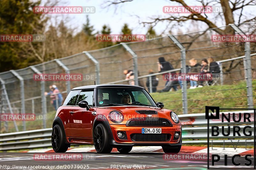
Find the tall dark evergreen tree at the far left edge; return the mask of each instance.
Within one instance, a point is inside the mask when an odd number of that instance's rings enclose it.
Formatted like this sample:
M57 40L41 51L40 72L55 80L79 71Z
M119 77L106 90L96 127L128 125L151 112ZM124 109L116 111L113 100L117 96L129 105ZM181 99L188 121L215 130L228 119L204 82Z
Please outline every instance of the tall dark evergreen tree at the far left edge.
M0 34L37 34L36 30L42 29L44 21L40 20L41 14L33 12L33 7L40 3L41 1L1 0ZM29 56L29 50L28 42L0 42L0 72L33 63L36 57Z

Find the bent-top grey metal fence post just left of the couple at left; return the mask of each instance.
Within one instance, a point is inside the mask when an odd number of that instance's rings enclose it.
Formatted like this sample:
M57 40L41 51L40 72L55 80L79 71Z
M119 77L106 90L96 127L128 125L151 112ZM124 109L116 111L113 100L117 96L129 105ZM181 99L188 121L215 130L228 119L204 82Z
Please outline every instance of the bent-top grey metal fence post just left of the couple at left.
M36 74L42 74L39 70L36 69L36 67L34 66L29 66L31 68L31 70L33 70ZM46 98L44 95L45 92L45 83L44 81L40 82L41 84L41 103L42 103L42 112L43 112L43 128L46 128L46 120L44 119L46 117L47 114L47 110L46 110Z

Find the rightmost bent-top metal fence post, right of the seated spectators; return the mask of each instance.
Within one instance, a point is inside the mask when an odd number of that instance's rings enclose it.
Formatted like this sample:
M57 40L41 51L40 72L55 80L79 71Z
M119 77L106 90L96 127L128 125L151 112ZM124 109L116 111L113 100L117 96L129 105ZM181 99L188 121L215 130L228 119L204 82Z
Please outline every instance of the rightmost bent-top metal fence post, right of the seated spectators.
M229 24L238 34L246 35L240 28L235 24ZM247 88L247 102L248 108L253 108L253 94L252 94L252 65L251 65L251 43L244 43L244 53L245 53L245 68L244 74L246 79L246 88Z

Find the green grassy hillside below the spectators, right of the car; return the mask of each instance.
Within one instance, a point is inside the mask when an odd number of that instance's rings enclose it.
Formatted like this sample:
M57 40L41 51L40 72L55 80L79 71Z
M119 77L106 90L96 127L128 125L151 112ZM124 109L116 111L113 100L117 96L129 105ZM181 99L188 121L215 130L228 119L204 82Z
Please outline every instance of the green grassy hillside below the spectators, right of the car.
M256 80L252 81L253 102L256 104ZM162 92L150 94L156 102L163 102L164 108L182 114L182 93ZM222 108L247 108L246 82L233 85L204 86L202 88L187 89L188 114L204 113L205 106L219 106Z

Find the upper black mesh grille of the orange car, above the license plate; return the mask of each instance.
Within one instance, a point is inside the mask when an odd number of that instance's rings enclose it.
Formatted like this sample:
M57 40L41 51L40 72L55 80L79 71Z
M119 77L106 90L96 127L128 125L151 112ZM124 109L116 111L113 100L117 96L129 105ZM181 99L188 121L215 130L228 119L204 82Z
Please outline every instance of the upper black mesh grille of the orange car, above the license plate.
M172 126L168 119L164 118L132 118L127 121L126 126Z

